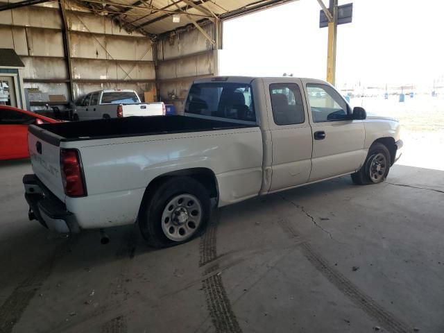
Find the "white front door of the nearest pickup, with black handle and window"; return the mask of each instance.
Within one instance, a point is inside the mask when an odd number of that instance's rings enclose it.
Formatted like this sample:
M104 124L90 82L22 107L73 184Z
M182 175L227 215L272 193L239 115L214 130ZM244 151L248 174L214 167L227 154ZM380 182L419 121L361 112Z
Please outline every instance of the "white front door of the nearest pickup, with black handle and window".
M364 122L350 119L350 106L331 85L305 80L304 88L313 132L309 182L356 171L364 157Z

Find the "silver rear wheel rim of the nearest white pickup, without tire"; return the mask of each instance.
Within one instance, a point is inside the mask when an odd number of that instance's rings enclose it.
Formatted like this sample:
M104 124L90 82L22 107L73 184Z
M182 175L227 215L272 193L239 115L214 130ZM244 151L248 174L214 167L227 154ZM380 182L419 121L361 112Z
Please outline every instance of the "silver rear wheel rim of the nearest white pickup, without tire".
M202 205L191 194L174 196L162 213L162 231L172 241L185 241L198 230Z

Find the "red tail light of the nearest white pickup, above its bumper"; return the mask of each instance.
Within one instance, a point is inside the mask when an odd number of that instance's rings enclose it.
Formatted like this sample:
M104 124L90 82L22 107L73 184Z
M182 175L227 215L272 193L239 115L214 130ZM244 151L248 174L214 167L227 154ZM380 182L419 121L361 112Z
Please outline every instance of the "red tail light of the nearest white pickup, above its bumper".
M85 196L82 164L77 149L60 149L60 171L67 196Z

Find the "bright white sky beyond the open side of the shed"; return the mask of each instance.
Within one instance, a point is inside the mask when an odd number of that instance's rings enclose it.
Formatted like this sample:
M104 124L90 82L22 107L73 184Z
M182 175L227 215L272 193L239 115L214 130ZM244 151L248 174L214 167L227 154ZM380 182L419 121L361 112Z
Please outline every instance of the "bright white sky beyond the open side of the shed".
M353 22L338 26L337 86L432 85L444 76L444 1L352 2ZM316 0L300 0L225 22L221 75L287 72L325 79L327 28L318 28L320 9Z

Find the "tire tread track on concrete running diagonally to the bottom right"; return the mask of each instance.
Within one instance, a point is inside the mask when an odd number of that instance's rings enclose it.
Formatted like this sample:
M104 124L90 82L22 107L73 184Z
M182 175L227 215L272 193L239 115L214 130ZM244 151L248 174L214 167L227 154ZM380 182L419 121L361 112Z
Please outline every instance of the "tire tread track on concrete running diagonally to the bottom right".
M280 219L278 225L280 225L288 237L293 239L299 236L298 232L291 226L289 220ZM367 296L366 293L361 291L353 282L333 268L327 259L311 248L310 244L306 241L300 244L300 252L334 287L339 289L341 293L347 296L347 298L354 302L355 305L368 314L368 316L375 319L385 330L393 333L413 332L413 328L396 318L381 305L378 305L375 300Z

